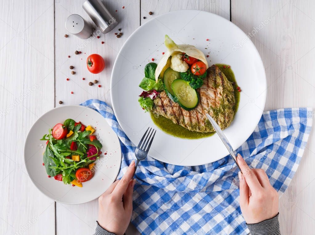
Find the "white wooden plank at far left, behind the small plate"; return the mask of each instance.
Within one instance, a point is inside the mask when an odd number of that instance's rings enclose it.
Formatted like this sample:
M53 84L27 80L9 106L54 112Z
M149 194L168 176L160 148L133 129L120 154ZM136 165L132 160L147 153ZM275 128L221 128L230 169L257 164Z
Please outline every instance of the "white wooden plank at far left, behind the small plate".
M54 201L27 175L23 146L54 108L54 2L2 1L0 21L0 234L53 235Z

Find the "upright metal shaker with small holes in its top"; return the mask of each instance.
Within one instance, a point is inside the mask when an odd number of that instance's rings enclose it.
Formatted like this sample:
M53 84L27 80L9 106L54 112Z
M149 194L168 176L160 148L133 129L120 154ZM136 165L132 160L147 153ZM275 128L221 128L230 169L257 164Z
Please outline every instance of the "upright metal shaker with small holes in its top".
M72 14L66 20L66 29L80 38L88 38L92 34L92 26L80 15Z

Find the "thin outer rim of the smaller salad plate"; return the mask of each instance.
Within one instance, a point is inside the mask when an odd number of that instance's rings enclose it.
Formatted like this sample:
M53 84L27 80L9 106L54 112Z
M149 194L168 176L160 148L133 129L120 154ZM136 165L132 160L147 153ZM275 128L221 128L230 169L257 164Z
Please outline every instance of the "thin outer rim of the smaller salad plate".
M24 142L24 149L23 149L23 158L24 158L24 165L25 165L25 168L26 168L26 172L27 172L27 175L28 175L28 177L31 179L31 181L32 181L32 183L35 185L35 187L43 194L43 195L45 195L46 197L48 197L48 198L50 198L50 199L52 199L52 200L54 200L55 202L59 202L59 203L63 203L63 204L67 204L67 205L79 205L79 204L83 204L83 203L88 203L88 202L91 202L91 201L94 201L95 199L97 199L97 198L99 198L102 194L100 194L99 196L97 196L96 198L94 198L94 199L91 199L91 200L89 200L89 201L86 201L86 202L80 202L80 203L65 203L65 202L62 202L61 200L56 200L57 198L51 198L48 194L46 194L45 192L43 192L43 190L41 190L38 186L37 186L37 182L35 183L34 182L34 180L33 180L33 178L30 176L30 173L29 173L29 169L28 169L28 167L27 167L27 164L26 164L26 142L27 142L27 140L30 138L30 131L31 131L31 129L37 124L37 122L39 122L39 120L44 116L44 115L46 115L47 113L49 113L49 112L53 112L54 110L56 110L56 109L60 109L60 108L64 108L64 107L85 107L85 108L88 108L88 109L90 109L90 110L92 110L92 111L94 111L94 112L96 112L96 113L98 113L102 118L104 118L99 112L97 112L96 110L94 110L94 109L92 109L92 108L90 108L90 107L87 107L87 106L82 106L82 105L63 105L63 106L59 106L59 107L54 107L54 108L52 108L52 109L50 109L49 111L47 111L47 112L45 112L45 113L43 113L39 118L37 118L37 120L33 123L33 125L31 126L31 128L28 130L28 133L27 133L27 135L26 135L26 138L25 138L25 142ZM105 119L105 118L104 118ZM105 122L107 123L107 121L105 120ZM111 128L111 126L107 123L107 125ZM122 151L121 151L121 146L120 146L120 140L119 140L119 138L118 138L118 136L117 136L117 134L114 132L114 130L112 130L113 131L113 133L115 134L115 138L117 138L117 142L119 143L119 152L120 152L120 163L119 163L119 171L117 172L117 175L115 176L115 179L117 179L117 176L118 176L118 174L119 174L119 172L120 172L120 167L121 167L121 163L122 163L122 158L123 158L123 156L122 156ZM115 182L115 180L113 181L113 182ZM113 183L112 182L112 183ZM107 189L106 189L107 190ZM105 192L105 191L104 191Z

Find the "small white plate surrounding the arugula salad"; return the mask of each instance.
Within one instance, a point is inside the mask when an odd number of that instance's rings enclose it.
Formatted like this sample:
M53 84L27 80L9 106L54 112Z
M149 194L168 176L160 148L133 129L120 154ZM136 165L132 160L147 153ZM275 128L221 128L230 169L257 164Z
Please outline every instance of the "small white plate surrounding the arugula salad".
M48 130L55 124L63 123L68 118L95 128L93 135L103 145L100 159L95 161L94 176L82 183L82 188L65 185L54 177L48 178L42 165L46 143L39 139L48 134ZM46 196L60 203L80 204L98 198L116 180L121 163L121 149L117 135L100 113L88 107L69 105L50 110L34 123L26 137L24 161L31 180Z

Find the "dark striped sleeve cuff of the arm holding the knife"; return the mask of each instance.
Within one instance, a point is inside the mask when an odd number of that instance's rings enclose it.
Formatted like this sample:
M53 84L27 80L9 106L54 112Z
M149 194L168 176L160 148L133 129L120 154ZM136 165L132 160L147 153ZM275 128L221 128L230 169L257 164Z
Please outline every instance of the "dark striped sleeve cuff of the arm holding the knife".
M280 235L280 224L278 220L279 213L269 219L256 224L247 224L250 234L252 235Z

